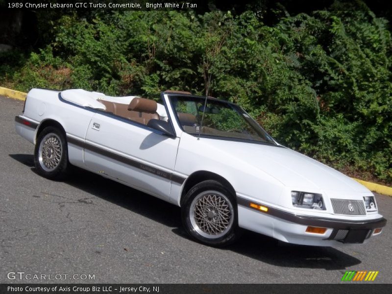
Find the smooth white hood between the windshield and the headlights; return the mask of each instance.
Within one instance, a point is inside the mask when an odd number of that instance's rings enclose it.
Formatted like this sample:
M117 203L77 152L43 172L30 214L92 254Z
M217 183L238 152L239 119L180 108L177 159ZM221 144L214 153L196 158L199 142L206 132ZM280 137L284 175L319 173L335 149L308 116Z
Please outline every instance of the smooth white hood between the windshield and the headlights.
M211 147L214 146L219 152L242 161L243 167L252 165L288 187L369 192L366 187L343 173L287 147L208 140L214 141L211 142Z

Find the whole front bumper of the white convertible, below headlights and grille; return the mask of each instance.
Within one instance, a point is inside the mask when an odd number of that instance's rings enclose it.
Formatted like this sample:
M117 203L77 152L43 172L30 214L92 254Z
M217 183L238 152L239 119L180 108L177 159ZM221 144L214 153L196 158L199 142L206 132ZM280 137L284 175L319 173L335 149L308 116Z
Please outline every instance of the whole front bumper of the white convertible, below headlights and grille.
M249 225L252 226L251 224L245 224L245 228L294 244L318 246L335 246L350 243L360 244L372 236L379 235L379 233L375 233L375 229L383 228L387 223L387 220L382 216L373 220L342 220L311 217L297 215L292 212L256 203L267 208L267 211L261 211L257 208L252 208L250 203L255 203L254 201L247 200L243 197L237 197L237 201L239 213L250 213L253 219L262 217L264 222L269 220L273 226L270 232L251 228L249 227ZM247 217L246 219L249 218ZM327 230L323 234L309 233L306 231L308 226L327 228Z

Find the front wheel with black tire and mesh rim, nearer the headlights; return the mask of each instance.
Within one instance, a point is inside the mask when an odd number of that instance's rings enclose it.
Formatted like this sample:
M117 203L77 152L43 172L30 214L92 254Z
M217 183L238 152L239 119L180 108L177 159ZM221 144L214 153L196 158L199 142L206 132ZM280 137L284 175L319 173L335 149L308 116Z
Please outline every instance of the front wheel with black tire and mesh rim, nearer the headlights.
M220 182L207 180L196 184L181 203L182 222L196 241L222 247L237 239L236 198Z

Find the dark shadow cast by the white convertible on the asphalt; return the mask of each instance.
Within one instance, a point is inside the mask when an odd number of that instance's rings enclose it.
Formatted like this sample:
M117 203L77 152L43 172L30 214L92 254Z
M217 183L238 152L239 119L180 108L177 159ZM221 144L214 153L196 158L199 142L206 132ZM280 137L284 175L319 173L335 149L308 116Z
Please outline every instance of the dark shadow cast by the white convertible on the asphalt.
M35 172L33 155L9 156ZM72 175L64 182L171 227L174 234L190 239L182 227L180 208L175 205L79 168L73 168ZM217 250L231 250L263 263L287 268L344 270L361 263L361 260L333 247L289 245L247 230L235 244Z

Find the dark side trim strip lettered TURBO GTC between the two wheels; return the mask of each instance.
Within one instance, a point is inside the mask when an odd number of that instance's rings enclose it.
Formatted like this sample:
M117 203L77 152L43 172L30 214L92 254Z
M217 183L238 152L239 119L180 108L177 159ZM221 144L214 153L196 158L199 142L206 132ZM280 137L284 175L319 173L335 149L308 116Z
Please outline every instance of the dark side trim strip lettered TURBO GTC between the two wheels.
M125 157L123 155L119 155L119 154L113 153L113 152L105 150L105 149L103 149L101 147L94 146L94 145L92 145L90 143L83 142L83 141L81 141L79 139L75 139L75 138L72 138L70 136L67 136L67 141L69 143L73 144L73 145L85 148L85 149L90 150L92 152L95 152L95 153L98 153L100 155L106 156L106 157L108 157L110 159L114 159L116 161L122 162L122 163L124 163L126 165L129 165L131 167L143 170L145 172L149 172L149 173L155 174L157 176L163 177L165 179L171 180L171 181L179 183L179 184L182 184L185 181L185 179L186 179L186 178L184 178L182 176L175 175L175 174L173 174L171 172L166 172L166 171L163 171L161 169L157 169L157 168L152 167L150 165L146 165L146 164L141 163L139 161L127 158L127 157Z

